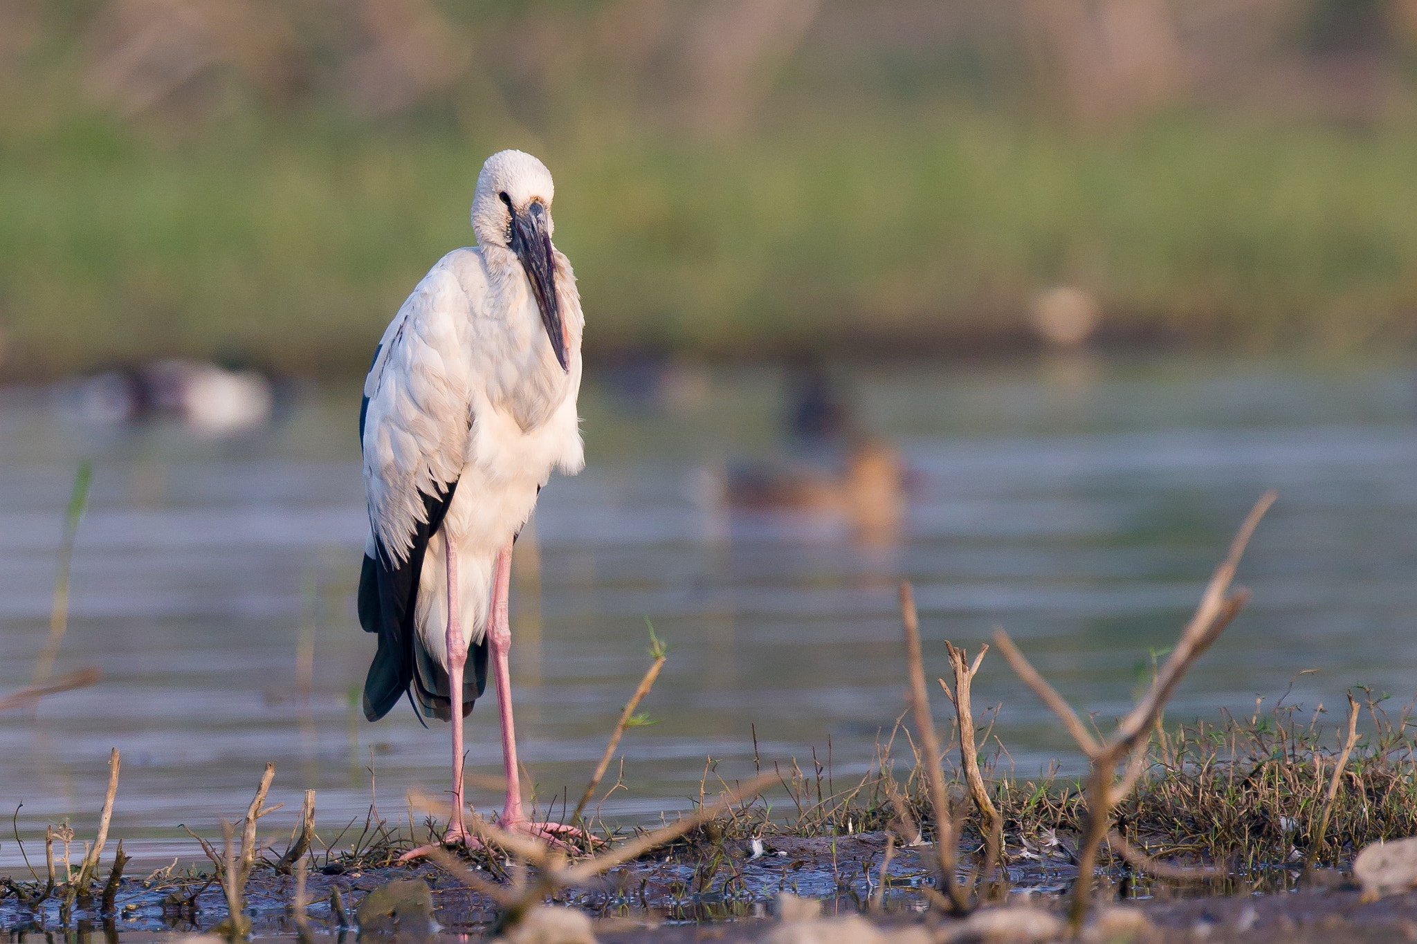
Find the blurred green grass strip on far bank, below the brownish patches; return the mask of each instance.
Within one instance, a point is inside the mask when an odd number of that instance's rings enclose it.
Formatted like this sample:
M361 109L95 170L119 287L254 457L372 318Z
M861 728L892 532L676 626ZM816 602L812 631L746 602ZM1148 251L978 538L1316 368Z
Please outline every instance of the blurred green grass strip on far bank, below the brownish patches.
M1016 343L1058 282L1095 292L1117 337L1417 338L1417 127L1212 115L1081 134L881 113L727 143L570 137L293 116L190 139L89 117L7 132L0 371L186 352L357 372L417 279L470 241L473 181L502 146L557 177L557 242L601 351Z

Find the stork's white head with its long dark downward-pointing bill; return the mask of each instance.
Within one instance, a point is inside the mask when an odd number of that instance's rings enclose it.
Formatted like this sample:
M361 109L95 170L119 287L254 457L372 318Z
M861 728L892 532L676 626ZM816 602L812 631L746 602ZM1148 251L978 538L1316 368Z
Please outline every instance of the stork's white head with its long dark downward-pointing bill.
M561 369L570 371L561 306L555 294L551 198L555 185L546 164L524 151L497 151L482 166L472 197L472 231L479 246L510 249L521 260L541 323Z

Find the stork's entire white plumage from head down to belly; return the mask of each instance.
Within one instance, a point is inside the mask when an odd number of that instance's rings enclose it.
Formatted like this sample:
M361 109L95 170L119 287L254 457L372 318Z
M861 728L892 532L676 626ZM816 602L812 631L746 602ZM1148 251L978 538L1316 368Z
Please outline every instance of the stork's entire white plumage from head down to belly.
M553 192L551 174L530 154L487 159L472 205L478 246L449 252L424 276L385 330L364 382L366 575L373 562L384 585L401 587L394 577L417 568L415 599L405 601L414 604L414 665L404 671L415 669L424 688L434 685L428 669L449 669L449 596L463 644L482 644L495 618L499 555L510 553L551 471L575 474L585 463L575 412L584 318L571 265L550 241ZM452 487L452 501L438 507ZM428 534L435 510L442 519ZM449 572L456 575L452 594ZM384 585L376 596L388 593ZM366 628L398 631L387 626L384 597L368 604L384 604L383 623L370 626L366 593L361 580ZM504 586L500 593L504 603ZM370 685L384 643L381 635ZM371 710L368 691L366 713L374 718L383 712ZM459 729L461 713L452 715ZM510 705L504 746L509 727ZM459 771L461 757L455 780Z

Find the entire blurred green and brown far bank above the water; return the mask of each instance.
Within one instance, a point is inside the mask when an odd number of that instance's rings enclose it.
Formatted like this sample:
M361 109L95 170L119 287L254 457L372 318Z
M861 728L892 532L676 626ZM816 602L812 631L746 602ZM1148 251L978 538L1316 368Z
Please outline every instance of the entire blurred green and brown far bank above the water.
M1417 338L1417 0L0 0L0 372L357 374L500 147L601 357Z

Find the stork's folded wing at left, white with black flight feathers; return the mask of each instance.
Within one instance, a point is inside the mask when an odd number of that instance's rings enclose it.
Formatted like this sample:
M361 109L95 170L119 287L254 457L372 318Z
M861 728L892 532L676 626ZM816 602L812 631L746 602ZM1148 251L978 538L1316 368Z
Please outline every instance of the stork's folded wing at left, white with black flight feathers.
M366 631L378 634L364 682L370 720L388 713L414 678L424 552L452 502L468 444L468 376L458 335L466 321L466 294L439 263L390 323L364 382L360 446L370 539L359 616ZM463 703L472 708L470 698Z

